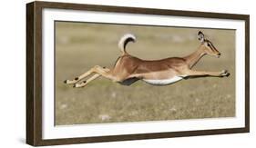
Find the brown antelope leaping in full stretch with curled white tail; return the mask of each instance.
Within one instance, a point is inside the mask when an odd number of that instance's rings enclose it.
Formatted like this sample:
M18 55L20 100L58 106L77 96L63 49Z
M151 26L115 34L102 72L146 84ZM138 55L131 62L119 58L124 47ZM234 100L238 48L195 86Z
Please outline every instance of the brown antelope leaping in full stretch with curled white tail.
M65 84L74 84L74 87L84 87L91 81L103 76L119 84L130 85L138 80L148 84L167 85L176 83L182 79L200 76L229 76L227 70L221 72L195 71L191 68L197 64L202 56L210 54L220 57L220 52L214 45L205 39L202 32L198 33L200 46L194 53L185 57L169 57L161 60L142 60L127 53L126 47L129 42L135 42L136 37L131 34L121 37L118 47L121 49L121 56L112 69L94 66L85 74L81 74L74 80L66 80ZM86 81L80 82L90 74L93 74Z

